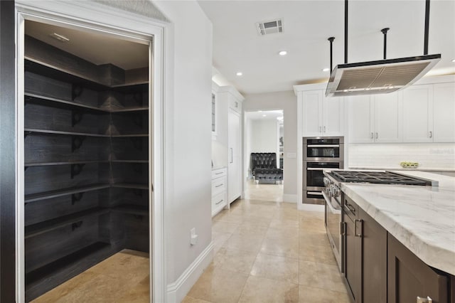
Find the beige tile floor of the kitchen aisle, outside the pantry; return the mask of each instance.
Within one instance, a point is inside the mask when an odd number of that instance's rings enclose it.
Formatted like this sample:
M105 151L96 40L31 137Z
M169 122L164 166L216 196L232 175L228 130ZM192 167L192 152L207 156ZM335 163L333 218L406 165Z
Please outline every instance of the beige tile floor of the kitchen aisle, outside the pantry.
M214 260L183 303L349 302L323 213L297 211L282 190L250 184L213 218Z

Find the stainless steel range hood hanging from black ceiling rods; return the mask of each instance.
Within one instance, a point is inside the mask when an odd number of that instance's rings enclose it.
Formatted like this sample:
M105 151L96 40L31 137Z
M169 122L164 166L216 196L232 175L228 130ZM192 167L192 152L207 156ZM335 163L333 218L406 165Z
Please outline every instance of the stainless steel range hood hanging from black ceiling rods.
M439 60L441 54L336 65L326 96L395 92L422 78Z

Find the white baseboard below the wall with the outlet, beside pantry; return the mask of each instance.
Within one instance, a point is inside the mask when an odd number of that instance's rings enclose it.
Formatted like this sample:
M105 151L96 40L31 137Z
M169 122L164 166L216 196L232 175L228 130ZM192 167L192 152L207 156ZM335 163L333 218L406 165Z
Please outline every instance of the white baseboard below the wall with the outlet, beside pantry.
M213 242L200 253L196 260L191 263L188 268L178 277L176 282L168 284L167 300L168 303L178 303L188 294L194 283L198 281L205 268L210 265L213 260Z

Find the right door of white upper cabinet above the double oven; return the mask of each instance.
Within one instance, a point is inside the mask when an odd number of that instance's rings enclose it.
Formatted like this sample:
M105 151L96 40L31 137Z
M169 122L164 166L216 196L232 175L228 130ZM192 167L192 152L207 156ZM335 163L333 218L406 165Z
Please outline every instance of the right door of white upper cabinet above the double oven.
M324 136L343 135L344 100L343 97L325 97L323 95L323 125Z

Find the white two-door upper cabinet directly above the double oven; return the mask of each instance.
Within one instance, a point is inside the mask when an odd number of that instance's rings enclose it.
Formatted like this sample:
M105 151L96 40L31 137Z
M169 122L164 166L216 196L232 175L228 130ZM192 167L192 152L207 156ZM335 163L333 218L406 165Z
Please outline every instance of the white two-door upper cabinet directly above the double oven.
M301 98L305 137L343 135L343 98L326 97L323 90L303 91Z

